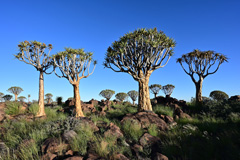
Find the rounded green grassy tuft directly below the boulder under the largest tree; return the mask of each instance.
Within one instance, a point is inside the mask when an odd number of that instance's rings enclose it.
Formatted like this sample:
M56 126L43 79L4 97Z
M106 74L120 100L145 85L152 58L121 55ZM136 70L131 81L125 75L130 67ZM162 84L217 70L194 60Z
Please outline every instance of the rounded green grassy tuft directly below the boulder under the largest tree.
M126 138L137 142L138 139L143 135L143 129L141 124L135 121L127 120L122 125L122 130L125 133Z

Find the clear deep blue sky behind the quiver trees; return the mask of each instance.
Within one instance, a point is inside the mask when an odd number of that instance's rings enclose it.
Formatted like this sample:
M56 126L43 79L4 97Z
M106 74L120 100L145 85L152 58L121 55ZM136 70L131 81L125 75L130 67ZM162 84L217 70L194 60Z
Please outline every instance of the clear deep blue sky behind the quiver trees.
M153 72L150 84L173 84L172 96L190 100L195 86L176 59L193 49L215 50L225 54L229 63L203 82L203 96L213 90L230 96L240 94L240 1L238 0L11 0L0 3L0 92L20 86L20 94L38 99L39 72L14 59L17 45L37 40L54 47L52 54L64 47L84 48L94 52L98 61L93 75L80 81L83 101L102 99L99 92L138 90L138 83L126 73L104 69L107 48L120 36L137 28L162 30L177 42L175 54L166 67ZM73 96L67 79L45 75L45 94ZM163 92L160 92L163 95ZM151 97L153 95L151 94Z

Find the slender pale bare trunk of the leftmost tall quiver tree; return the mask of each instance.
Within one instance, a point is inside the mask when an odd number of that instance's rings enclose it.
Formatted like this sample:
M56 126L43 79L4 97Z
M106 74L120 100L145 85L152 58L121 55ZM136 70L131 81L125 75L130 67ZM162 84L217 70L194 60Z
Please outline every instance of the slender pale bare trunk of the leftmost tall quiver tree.
M39 110L37 113L37 117L45 116L46 113L44 111L44 79L43 79L43 72L40 71L39 76L39 94L38 94L38 105Z

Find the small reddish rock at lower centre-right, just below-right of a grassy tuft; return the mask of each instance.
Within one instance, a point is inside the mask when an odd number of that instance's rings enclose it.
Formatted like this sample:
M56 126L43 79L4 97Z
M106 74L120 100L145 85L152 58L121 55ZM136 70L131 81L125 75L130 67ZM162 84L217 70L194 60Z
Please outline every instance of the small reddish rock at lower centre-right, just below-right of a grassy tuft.
M155 144L160 144L160 139L158 137L152 136L148 133L145 133L139 140L141 146L153 146Z

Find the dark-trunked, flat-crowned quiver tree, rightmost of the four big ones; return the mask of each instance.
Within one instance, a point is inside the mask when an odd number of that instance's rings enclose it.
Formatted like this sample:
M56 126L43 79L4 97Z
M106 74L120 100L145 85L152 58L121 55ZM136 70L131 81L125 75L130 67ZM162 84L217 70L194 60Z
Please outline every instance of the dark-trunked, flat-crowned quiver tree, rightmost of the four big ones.
M196 86L196 103L202 102L202 83L208 75L214 74L227 57L215 51L193 50L177 59L184 72L189 75ZM184 67L186 63L186 67ZM216 65L214 69L212 67ZM187 68L187 69L186 69Z

